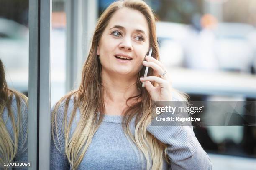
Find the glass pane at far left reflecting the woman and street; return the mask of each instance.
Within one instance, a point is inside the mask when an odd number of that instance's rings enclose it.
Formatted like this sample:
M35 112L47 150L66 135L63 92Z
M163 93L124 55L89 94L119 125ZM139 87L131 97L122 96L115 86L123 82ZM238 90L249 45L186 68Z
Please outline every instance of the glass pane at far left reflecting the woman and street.
M28 162L27 96L28 0L1 0L0 170L6 162Z

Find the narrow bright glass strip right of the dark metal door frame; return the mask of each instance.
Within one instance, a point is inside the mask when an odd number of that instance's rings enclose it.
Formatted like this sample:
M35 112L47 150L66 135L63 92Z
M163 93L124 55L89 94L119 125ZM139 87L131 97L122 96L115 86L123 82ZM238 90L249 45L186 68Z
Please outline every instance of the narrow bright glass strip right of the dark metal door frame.
M64 0L52 2L51 105L66 92L66 12Z

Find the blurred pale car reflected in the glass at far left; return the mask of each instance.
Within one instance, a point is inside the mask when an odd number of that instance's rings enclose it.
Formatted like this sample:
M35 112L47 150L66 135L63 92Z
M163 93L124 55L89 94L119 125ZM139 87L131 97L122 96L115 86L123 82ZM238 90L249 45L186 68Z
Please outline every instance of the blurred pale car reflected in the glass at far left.
M10 88L28 92L28 28L0 18L0 58Z

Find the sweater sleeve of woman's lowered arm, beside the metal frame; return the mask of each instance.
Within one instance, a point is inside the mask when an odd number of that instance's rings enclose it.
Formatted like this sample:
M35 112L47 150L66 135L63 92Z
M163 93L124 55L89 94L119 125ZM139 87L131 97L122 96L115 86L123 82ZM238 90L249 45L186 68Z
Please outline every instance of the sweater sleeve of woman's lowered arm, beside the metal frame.
M54 128L54 137L51 135L51 170L69 170L69 161L65 154L64 132L61 130L63 125L64 106L60 105L57 114L57 132ZM58 133L58 135L57 135Z

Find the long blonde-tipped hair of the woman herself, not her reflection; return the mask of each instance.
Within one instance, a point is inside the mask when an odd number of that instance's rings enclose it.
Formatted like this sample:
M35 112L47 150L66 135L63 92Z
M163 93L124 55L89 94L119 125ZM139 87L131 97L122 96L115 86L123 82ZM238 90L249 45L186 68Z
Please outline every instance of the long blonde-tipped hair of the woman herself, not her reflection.
M123 7L138 10L145 16L148 22L150 35L149 41L150 46L153 48L153 56L159 60L155 17L151 8L142 0L113 2L98 19L92 38L90 51L83 66L82 82L78 90L70 92L62 97L52 111L52 135L53 139L58 139L57 141L54 140L54 143L59 149L61 141L59 141L58 121L61 119L63 121L61 132L63 132L65 138L65 154L69 160L71 168L74 170L78 168L79 164L84 158L84 155L86 154L86 151L92 141L92 137L99 128L104 117L104 89L102 88L101 64L99 58L97 57L97 45L112 15ZM140 75L143 75L143 70L138 73L138 77ZM150 69L148 75L155 75L154 70ZM155 82L152 82L152 84L156 86ZM142 153L142 155L146 158L147 169L160 170L162 169L163 158L166 158L166 160L169 162L166 156L167 146L146 131L147 126L151 122L153 101L151 100L147 90L141 87L141 82L139 79L137 80L136 85L140 90L140 94L130 97L128 100L141 98L141 101L133 103L131 106L127 105L128 108L124 112L122 122L123 130L125 131L126 136L133 141L140 153ZM68 120L67 109L69 107L71 97L73 97L74 107ZM128 100L126 101L126 104ZM63 103L65 103L65 109L64 115L61 117L61 115L58 115L58 109ZM81 112L80 120L77 122L77 127L75 128L72 136L69 136L72 121L76 115L77 108L79 108ZM100 113L99 115L97 114L98 112ZM129 124L134 116L136 117L135 133L132 135L129 129ZM55 138L54 135L56 135Z

